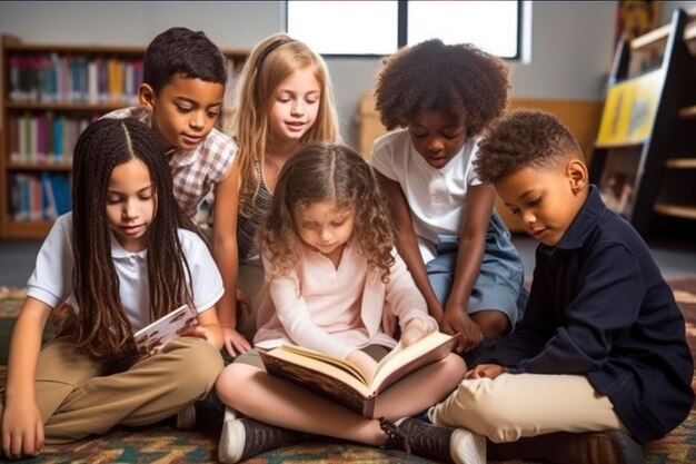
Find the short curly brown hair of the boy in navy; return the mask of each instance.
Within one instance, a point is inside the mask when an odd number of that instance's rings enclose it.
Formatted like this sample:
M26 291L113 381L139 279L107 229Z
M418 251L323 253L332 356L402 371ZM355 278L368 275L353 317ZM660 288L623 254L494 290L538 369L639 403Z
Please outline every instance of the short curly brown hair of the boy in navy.
M494 121L478 144L474 161L483 181L497 182L526 167L554 167L568 158L583 159L575 136L554 115L518 109Z

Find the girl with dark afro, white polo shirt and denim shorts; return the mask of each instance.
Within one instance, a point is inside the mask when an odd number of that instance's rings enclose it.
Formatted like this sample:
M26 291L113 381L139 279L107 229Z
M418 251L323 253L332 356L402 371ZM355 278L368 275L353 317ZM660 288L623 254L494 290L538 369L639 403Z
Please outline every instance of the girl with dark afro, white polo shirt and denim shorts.
M392 130L372 146L398 231L399 253L428 310L457 351L508 333L526 302L523 266L476 176L479 135L507 105L503 60L439 39L405 48L380 70L375 96Z

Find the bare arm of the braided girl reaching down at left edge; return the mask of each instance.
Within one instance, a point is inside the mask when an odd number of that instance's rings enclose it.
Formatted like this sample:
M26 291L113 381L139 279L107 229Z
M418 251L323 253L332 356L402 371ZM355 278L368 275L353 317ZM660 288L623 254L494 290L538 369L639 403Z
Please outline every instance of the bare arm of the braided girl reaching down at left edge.
M43 448L43 421L34 381L41 336L50 312L47 304L28 297L12 330L2 413L2 452L10 458L37 456Z

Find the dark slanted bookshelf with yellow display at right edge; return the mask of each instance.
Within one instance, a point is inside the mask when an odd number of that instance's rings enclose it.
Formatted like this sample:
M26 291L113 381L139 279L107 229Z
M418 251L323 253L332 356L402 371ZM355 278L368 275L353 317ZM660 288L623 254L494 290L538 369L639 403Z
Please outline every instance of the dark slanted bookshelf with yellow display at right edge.
M589 169L642 235L696 228L696 10L618 45Z

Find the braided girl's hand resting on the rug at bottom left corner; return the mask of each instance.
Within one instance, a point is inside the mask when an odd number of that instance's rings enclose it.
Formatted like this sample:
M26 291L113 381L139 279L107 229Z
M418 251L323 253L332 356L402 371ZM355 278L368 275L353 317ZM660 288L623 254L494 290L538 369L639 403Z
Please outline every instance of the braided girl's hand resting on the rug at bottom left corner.
M34 401L9 401L2 414L2 453L10 460L36 457L43 451L43 421Z

